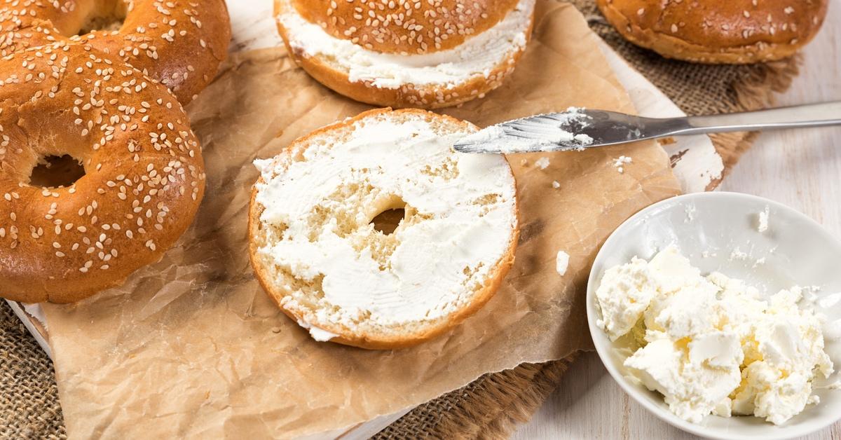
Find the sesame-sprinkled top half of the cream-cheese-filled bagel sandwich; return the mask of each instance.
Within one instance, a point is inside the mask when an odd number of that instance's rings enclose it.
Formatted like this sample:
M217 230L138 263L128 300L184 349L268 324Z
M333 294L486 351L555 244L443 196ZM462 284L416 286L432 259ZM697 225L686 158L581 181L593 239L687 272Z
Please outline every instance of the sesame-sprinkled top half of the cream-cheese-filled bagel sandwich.
M328 34L369 50L424 54L447 50L499 23L517 0L293 0Z

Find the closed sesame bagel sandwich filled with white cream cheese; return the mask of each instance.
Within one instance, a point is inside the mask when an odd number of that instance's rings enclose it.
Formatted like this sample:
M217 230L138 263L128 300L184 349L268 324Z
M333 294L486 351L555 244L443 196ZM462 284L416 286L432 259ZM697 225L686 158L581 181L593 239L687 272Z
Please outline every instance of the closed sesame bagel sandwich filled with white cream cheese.
M535 0L275 0L289 54L363 103L436 109L481 97L514 71Z

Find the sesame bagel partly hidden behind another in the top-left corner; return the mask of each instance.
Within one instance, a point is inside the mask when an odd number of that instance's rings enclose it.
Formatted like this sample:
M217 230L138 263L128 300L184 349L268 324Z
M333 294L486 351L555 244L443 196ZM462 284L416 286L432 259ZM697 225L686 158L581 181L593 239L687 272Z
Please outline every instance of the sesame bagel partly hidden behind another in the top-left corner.
M185 105L214 79L230 43L224 0L2 1L0 55L69 37L135 66Z

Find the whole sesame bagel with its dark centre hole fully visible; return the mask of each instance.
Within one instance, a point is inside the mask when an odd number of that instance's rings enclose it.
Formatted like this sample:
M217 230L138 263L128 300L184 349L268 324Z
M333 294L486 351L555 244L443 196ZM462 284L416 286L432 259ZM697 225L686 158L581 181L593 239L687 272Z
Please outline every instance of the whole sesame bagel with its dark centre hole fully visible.
M0 296L66 303L121 284L187 229L204 162L166 87L65 41L0 60ZM47 156L84 176L30 183Z

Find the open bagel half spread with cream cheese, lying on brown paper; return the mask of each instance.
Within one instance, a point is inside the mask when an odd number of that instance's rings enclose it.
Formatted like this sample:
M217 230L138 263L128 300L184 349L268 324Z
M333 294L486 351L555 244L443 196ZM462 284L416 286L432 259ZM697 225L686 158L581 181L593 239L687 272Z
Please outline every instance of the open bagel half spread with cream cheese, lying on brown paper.
M477 128L371 110L255 164L251 266L316 341L407 347L484 305L514 261L516 184L497 155L452 144ZM394 231L383 213L402 209Z

